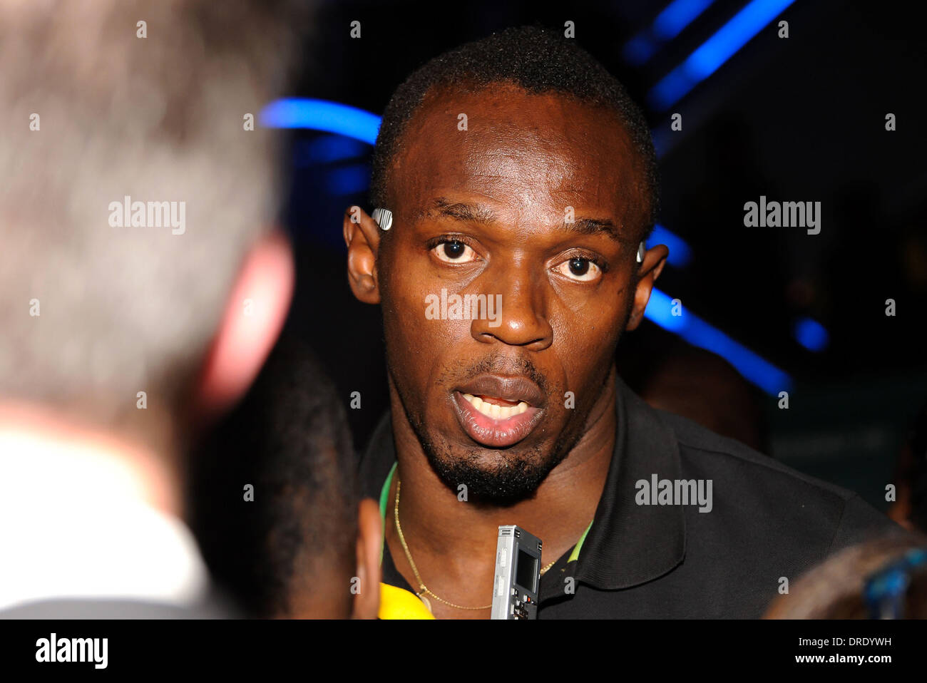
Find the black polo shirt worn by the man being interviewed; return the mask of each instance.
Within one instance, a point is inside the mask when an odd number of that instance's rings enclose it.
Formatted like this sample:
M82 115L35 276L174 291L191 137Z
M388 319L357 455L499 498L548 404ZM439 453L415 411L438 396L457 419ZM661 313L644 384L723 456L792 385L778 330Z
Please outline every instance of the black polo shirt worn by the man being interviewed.
M620 379L616 389L602 498L578 556L576 547L566 551L541 576L539 619L756 618L781 577L792 583L832 552L899 529L851 491L655 410ZM362 457L365 496L381 500L395 462L387 413ZM703 480L703 491L711 480L710 512L681 496L638 504L654 474ZM413 590L384 546L382 580Z

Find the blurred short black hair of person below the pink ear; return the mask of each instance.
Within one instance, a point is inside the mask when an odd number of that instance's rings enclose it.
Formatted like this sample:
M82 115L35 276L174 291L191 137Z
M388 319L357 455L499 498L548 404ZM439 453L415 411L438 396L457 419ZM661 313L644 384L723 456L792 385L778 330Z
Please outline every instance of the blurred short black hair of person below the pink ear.
M289 616L300 593L327 596L330 570L349 572L349 601L360 493L345 412L311 349L283 338L191 459L191 526L248 615Z

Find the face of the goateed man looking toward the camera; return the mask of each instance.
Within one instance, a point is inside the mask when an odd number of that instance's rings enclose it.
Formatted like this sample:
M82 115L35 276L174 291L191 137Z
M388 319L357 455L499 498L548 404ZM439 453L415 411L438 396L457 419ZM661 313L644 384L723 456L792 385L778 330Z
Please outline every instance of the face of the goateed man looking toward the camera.
M616 114L507 85L430 94L406 129L377 256L387 365L452 490L521 500L585 431L634 299L637 158Z

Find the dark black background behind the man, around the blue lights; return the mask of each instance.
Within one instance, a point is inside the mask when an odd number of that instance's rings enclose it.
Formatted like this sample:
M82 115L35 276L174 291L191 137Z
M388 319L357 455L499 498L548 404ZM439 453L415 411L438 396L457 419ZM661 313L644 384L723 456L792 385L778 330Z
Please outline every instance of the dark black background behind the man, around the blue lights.
M748 4L710 3L640 66L622 50L668 2L327 2L292 95L379 115L430 57L508 26L562 32L571 20L578 44L644 103L655 82ZM768 454L882 509L927 398L927 51L910 6L798 0L668 111L645 107L661 153L660 223L692 250L688 265L667 266L657 286L792 375L788 410L756 390ZM787 39L778 37L782 19ZM361 21L360 39L349 36L352 20ZM669 129L673 112L682 114L681 132ZM895 132L885 130L889 112ZM379 309L349 292L341 216L353 204L373 209L372 148L337 137L289 132L285 222L298 286L287 332L316 350L346 405L361 392L362 409L349 419L362 448L387 407L386 370ZM744 202L761 195L821 202L820 234L744 227ZM887 298L895 317L885 315ZM796 341L803 317L827 329L825 348ZM673 335L647 321L619 346L619 365L631 366L639 388L673 348ZM731 395L731 411L737 401Z

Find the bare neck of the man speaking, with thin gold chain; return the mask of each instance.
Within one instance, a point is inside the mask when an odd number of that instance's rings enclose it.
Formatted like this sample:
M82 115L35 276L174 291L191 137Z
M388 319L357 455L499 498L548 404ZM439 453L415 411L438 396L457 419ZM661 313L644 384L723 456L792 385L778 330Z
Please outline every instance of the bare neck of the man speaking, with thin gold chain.
M396 480L401 482L402 533L425 585L458 604L486 604L491 601L500 525L519 525L539 537L544 544L541 566L554 562L574 546L589 526L615 449L614 379L613 367L590 411L583 436L564 461L553 468L530 499L506 507L458 500L457 492L431 468L395 387L390 387L398 466L389 491L387 543L397 568L413 588L418 589L418 583L393 521ZM462 588L466 586L477 588L468 592ZM448 595L442 594L441 588ZM470 595L471 601L467 602L464 595ZM455 610L449 614L466 616Z

